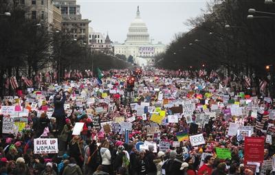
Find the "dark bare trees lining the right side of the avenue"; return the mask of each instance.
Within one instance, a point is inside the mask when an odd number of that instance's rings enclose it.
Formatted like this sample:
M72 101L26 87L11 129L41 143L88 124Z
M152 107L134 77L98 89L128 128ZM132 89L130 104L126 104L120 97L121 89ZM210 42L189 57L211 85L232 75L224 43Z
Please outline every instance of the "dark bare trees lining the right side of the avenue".
M269 13L265 13L269 12ZM189 19L190 32L177 34L155 60L165 69L217 69L273 77L275 4L265 0L221 0Z

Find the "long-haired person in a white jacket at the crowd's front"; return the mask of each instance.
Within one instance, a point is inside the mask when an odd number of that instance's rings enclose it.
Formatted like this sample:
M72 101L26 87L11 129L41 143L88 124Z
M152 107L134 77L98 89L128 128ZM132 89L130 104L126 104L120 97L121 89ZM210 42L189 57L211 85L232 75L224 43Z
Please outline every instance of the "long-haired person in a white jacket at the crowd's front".
M109 150L110 144L107 140L103 141L100 148L100 156L102 158L102 163L105 172L111 174L111 152Z

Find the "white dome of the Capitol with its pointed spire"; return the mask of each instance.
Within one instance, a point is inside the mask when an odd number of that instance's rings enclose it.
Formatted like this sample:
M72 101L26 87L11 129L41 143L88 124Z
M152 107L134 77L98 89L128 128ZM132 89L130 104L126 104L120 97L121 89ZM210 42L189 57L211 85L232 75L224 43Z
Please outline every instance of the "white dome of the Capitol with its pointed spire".
M140 9L138 6L137 15L129 27L125 43L130 45L150 43L148 29L144 21L140 18Z

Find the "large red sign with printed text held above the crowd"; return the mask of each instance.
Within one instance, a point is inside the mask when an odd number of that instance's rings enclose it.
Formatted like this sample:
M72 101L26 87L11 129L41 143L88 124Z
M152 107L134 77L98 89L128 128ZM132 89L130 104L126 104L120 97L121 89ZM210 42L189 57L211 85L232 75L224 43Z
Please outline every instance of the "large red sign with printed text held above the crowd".
M263 163L264 143L263 137L245 137L245 162Z

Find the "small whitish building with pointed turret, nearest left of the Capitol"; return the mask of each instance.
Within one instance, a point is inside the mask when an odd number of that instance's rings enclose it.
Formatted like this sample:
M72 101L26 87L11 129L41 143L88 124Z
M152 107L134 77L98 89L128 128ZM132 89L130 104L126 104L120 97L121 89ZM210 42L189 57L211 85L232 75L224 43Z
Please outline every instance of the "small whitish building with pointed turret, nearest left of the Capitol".
M91 50L96 53L113 54L113 47L109 34L105 37L100 32L94 32L92 27L89 27L89 46Z

